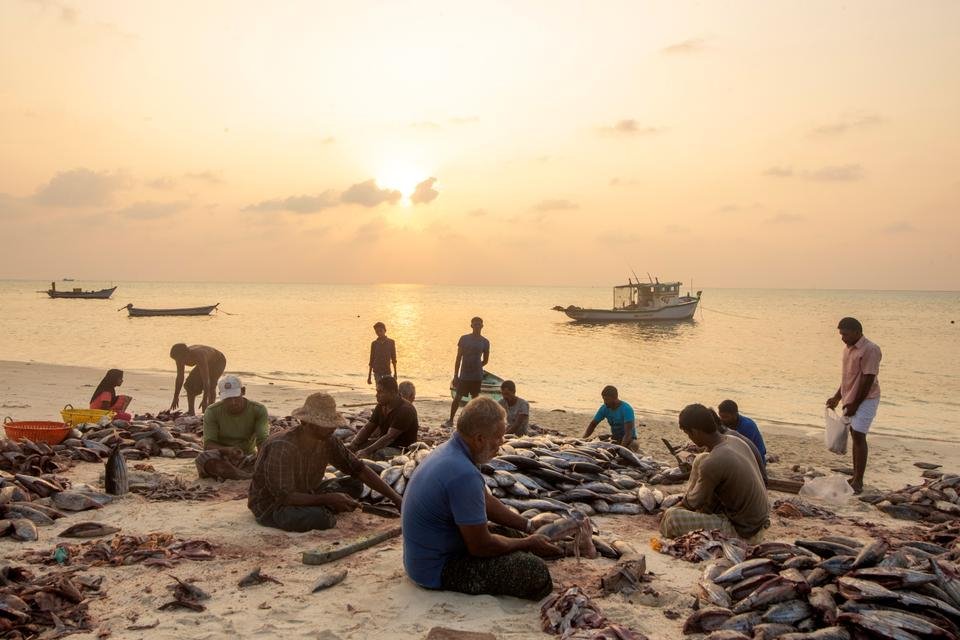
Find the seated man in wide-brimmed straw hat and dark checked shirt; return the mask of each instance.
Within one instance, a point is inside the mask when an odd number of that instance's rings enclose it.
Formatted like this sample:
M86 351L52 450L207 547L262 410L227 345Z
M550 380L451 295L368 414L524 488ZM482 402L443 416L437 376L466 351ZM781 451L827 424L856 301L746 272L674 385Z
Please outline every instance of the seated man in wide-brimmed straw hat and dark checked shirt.
M284 531L336 526L336 514L352 511L359 503L347 493L323 491L328 464L400 506L397 492L333 437L347 421L332 396L311 394L292 415L300 420L299 426L271 436L257 457L247 500L257 522Z

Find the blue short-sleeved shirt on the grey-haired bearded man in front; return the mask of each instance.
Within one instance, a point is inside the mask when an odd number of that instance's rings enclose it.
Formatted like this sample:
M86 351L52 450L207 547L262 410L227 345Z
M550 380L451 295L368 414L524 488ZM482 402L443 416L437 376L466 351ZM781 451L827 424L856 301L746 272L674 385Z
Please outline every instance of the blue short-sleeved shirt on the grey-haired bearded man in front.
M422 587L440 589L447 560L467 555L459 525L487 523L486 489L455 433L413 472L403 494L403 566Z

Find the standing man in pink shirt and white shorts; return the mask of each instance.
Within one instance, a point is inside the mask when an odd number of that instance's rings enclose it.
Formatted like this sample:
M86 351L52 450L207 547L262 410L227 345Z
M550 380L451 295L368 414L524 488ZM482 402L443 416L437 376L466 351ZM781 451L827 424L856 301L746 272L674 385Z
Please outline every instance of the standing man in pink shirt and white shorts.
M850 437L853 441L853 478L850 486L854 493L863 491L863 474L867 469L867 433L877 416L880 406L880 347L866 339L863 325L856 318L843 318L837 325L843 350L843 368L840 388L827 398L827 406L843 407L843 415L850 420Z

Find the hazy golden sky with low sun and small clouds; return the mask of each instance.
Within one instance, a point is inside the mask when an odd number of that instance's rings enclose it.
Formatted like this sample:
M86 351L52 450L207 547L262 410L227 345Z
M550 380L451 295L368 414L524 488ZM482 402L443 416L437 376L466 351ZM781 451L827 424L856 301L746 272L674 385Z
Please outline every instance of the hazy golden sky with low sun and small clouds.
M0 278L960 289L960 2L0 0Z

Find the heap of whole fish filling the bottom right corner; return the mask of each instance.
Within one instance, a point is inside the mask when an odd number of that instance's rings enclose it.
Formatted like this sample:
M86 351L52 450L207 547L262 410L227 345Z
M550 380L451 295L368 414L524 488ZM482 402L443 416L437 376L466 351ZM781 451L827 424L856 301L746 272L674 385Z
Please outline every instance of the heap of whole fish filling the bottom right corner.
M684 633L727 640L957 638L960 573L934 545L765 542L704 567Z

